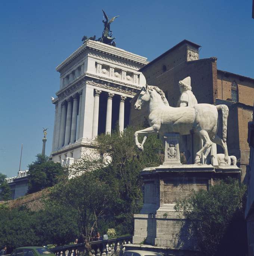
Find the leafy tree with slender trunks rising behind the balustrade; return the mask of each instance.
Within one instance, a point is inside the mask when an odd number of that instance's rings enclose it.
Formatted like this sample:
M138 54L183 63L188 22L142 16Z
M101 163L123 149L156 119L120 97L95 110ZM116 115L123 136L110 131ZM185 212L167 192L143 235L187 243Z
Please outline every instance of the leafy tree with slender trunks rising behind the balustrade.
M72 208L77 212L77 222L80 234L86 240L86 247L90 250L93 229L97 220L109 206L111 189L100 181L94 172L62 181L54 186L50 195L50 204L62 208Z

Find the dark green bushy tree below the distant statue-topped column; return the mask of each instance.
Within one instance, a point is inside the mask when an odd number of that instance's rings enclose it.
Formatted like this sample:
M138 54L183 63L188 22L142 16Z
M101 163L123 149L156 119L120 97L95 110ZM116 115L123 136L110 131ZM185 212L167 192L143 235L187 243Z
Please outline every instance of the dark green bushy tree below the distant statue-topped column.
M28 166L28 193L54 186L58 181L58 176L64 172L60 163L48 161L47 156L38 154L36 157L37 160Z

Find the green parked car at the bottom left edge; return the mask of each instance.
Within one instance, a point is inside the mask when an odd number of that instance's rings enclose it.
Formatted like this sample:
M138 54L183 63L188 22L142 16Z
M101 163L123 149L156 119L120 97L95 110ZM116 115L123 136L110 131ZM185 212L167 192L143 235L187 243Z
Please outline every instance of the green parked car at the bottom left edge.
M10 256L55 256L47 247L28 246L16 248Z

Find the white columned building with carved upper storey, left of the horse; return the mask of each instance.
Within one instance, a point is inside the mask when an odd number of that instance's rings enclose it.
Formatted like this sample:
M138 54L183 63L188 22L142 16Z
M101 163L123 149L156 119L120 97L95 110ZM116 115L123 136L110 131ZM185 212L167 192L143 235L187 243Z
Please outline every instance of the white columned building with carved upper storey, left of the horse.
M52 101L54 162L71 164L91 153L95 137L111 132L117 122L123 131L130 100L146 84L137 70L147 63L145 57L88 40L56 67L60 90Z

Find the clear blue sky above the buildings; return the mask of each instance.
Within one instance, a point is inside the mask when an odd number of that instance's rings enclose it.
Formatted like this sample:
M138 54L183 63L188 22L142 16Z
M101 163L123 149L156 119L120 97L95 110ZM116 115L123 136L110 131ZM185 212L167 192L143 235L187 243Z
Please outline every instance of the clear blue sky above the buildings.
M117 47L153 60L183 39L217 57L219 69L254 77L252 0L213 1L0 1L0 172L16 176L42 148L50 155L55 67L103 30L102 10L120 15L111 25Z

